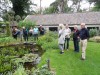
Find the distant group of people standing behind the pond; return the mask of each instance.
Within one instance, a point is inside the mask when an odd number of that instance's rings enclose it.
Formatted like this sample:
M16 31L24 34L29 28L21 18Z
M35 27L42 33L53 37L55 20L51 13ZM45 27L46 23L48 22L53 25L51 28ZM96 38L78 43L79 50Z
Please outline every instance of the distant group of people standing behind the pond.
M42 25L40 25L40 27L34 27L34 28L26 28L26 27L22 27L21 29L18 29L17 27L13 27L12 28L12 36L13 38L15 38L17 40L18 35L21 38L21 41L24 39L24 41L28 41L28 37L34 37L34 40L38 40L38 34L40 35L44 35L44 28Z

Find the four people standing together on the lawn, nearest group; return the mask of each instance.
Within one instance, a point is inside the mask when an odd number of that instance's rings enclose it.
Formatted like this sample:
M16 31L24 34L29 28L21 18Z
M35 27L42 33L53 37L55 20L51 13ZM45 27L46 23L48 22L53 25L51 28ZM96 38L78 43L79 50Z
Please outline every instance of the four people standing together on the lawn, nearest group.
M74 31L71 32L68 24L65 26L63 24L59 24L59 32L58 32L58 44L60 48L60 54L64 53L64 50L69 50L69 41L71 33L73 33L73 44L74 44L74 51L79 52L79 42L81 44L82 56L81 59L86 59L86 47L87 47L87 40L89 39L89 31L85 26L85 23L81 23L81 29L78 29L78 26L74 26Z

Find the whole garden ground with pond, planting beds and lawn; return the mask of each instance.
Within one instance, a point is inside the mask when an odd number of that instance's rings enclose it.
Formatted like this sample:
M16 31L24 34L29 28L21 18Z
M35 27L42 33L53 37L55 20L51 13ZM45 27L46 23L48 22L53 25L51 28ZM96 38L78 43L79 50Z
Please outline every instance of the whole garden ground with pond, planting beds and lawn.
M90 30L86 60L80 60L74 52L73 41L69 51L60 54L57 32L46 32L34 42L28 43L2 34L0 37L0 74L1 75L99 75L100 74L100 37L99 31Z

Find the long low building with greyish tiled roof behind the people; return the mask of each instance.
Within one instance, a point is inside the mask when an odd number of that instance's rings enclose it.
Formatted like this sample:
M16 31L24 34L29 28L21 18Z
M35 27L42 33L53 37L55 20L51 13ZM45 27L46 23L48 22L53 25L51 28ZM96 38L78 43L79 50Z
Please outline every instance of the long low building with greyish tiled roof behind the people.
M80 25L86 23L87 27L97 27L100 29L100 12L85 12L71 14L47 14L47 15L28 15L25 20L36 22L37 26L43 25L47 28L58 27L60 23Z

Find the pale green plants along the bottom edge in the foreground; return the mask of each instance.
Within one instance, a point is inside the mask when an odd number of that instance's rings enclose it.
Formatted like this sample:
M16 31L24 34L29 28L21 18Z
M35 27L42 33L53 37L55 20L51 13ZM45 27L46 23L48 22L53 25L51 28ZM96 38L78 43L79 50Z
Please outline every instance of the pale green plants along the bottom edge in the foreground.
M34 70L27 70L23 67L23 65L19 65L19 67L15 70L15 72L8 72L7 75L56 75L54 72L48 70L47 65L43 65L41 68Z

